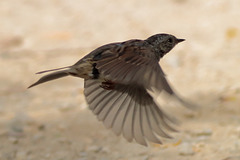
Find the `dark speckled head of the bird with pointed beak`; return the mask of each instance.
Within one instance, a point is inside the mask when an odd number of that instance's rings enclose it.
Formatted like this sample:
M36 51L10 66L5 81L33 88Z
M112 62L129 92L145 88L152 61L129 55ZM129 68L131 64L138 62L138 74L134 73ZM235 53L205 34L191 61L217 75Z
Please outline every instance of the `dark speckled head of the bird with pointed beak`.
M153 50L159 59L173 49L176 44L183 41L185 39L178 39L173 35L164 33L156 34L146 39L146 42L153 46Z

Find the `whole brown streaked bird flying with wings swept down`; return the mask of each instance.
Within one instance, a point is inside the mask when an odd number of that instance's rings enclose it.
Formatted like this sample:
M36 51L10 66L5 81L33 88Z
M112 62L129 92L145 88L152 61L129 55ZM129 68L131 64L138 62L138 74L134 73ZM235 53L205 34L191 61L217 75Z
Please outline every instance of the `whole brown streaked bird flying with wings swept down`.
M147 146L172 138L175 120L166 114L150 92L162 92L192 107L172 89L159 62L178 43L174 35L159 33L145 40L131 39L98 47L71 66L38 72L49 73L28 88L54 79L84 79L84 95L90 110L128 142Z

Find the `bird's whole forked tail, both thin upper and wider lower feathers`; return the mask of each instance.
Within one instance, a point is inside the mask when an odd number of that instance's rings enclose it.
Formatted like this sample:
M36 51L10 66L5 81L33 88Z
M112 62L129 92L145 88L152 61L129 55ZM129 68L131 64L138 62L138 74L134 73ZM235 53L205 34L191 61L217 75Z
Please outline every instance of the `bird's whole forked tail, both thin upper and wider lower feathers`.
M57 70L65 69L65 68L69 68L69 67L63 67L63 68L41 71L41 72L38 72L36 74L41 74L41 73L51 72L51 71L57 71ZM41 83L45 83L45 82L48 82L48 81L51 81L51 80L54 80L54 79L62 78L62 77L68 76L68 75L69 75L69 69L53 72L53 73L50 73L50 74L47 74L47 75L43 76L37 82L30 85L28 88L34 87L36 85L39 85Z

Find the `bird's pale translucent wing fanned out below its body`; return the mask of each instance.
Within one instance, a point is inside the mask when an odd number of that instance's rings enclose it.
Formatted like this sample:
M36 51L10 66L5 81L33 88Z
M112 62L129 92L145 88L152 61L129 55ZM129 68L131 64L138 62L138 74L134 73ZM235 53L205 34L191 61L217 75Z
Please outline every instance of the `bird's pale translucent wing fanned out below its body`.
M146 140L161 143L158 136L170 138L166 131L176 131L173 122L139 85L114 84L113 90L100 87L98 80L85 80L84 94L90 109L107 128L128 141L147 145Z

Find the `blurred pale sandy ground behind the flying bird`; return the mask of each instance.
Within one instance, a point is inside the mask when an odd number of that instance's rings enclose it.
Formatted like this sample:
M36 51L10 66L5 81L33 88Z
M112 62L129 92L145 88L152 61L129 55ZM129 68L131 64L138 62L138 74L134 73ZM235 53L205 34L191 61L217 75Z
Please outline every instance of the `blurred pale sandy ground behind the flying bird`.
M1 0L0 160L239 160L239 17L239 0ZM37 71L162 32L187 39L161 65L201 106L162 105L181 122L163 145L128 143L106 129L87 109L80 79L26 89Z

